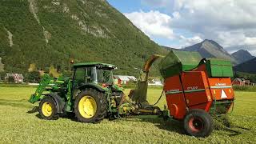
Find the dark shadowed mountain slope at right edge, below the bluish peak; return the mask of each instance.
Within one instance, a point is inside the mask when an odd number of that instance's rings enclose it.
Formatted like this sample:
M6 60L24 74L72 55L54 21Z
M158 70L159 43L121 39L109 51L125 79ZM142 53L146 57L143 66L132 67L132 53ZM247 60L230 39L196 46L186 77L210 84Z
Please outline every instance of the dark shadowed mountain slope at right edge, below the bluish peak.
M256 74L256 58L234 66L234 71Z

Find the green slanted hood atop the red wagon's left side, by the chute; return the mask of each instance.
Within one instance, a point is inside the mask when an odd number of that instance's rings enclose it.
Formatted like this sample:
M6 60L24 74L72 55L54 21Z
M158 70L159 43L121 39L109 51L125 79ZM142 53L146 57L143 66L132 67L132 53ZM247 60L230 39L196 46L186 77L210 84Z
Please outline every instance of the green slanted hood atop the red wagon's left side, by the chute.
M159 70L163 78L168 78L196 68L201 59L198 52L171 50L159 63Z

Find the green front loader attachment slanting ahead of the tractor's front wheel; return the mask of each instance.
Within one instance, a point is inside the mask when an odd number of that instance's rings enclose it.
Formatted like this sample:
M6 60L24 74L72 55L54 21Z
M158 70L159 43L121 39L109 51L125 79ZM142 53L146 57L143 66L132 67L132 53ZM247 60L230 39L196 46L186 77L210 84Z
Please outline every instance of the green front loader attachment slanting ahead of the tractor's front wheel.
M50 75L44 74L42 81L39 83L39 86L37 90L35 90L34 94L31 95L29 102L37 102L41 98L42 93L46 90L46 86L49 86L52 81L53 78L51 78Z

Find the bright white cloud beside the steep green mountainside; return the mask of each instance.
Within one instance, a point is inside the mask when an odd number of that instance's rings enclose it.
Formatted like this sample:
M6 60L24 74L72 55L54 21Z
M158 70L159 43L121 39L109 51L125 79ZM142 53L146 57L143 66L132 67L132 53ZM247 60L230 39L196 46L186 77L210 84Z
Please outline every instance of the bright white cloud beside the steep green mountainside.
M172 18L167 14L160 13L159 11L151 10L149 12L144 12L140 10L139 12L133 12L125 15L134 23L135 26L149 37L176 39L183 43L182 46L190 46L191 44L202 41L202 38L199 36L186 38L183 35L174 34L174 30L170 27ZM179 14L174 13L173 17L178 18Z

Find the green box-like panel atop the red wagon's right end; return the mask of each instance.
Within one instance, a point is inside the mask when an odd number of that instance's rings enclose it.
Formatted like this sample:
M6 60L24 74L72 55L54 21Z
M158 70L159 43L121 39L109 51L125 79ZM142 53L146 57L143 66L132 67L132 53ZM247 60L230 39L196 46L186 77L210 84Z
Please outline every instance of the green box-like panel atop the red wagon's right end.
M207 73L210 77L233 77L232 63L221 59L208 59Z

